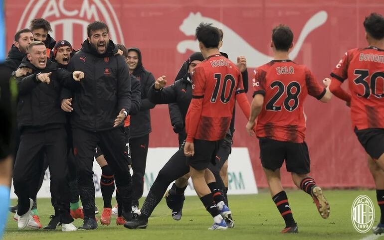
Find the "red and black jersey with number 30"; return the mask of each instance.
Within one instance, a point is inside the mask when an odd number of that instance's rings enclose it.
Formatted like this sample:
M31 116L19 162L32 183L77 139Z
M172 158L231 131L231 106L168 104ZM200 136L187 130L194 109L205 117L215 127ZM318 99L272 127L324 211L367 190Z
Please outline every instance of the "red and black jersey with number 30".
M384 50L348 50L331 76L335 81L331 87L348 79L353 128L384 128Z

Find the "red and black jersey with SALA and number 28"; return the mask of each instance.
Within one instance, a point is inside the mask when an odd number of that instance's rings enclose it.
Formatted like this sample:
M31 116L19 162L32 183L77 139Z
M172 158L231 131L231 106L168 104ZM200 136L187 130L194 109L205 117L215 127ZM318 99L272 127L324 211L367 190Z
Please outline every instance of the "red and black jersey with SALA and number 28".
M264 95L257 118L257 137L304 142L303 103L307 95L320 100L326 93L312 72L291 60L273 60L255 69L254 93Z

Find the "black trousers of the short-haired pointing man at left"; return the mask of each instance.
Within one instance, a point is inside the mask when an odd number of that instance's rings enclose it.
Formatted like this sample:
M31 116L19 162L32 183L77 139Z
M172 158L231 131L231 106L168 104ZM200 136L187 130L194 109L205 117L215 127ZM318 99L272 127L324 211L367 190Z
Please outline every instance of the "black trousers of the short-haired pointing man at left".
M73 222L69 215L69 186L67 175L67 145L64 127L37 132L25 129L21 133L20 145L13 169L14 192L18 197L17 214L23 215L29 209L29 198L36 196L43 162L36 157L43 151L48 161L51 194L59 211L62 223Z

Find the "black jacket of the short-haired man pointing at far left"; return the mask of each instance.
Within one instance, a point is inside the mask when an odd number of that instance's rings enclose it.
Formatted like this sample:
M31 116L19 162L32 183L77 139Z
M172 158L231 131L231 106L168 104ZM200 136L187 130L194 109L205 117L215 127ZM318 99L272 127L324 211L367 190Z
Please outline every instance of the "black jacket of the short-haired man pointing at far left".
M20 67L32 69L32 73L16 79L19 101L17 105L17 124L20 131L25 127L43 128L66 122L65 114L60 109L60 91L63 85L75 86L78 83L72 73L57 67L48 59L45 69L33 66L25 57ZM41 83L37 73L52 72L50 83Z

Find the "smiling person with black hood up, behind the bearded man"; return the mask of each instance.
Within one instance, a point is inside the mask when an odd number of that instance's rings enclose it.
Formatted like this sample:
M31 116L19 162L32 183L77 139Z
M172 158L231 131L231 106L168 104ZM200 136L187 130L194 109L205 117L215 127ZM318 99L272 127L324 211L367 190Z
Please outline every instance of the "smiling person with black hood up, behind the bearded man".
M127 63L129 72L140 80L141 105L140 111L131 116L130 119L130 139L129 145L132 156L132 213L133 218L140 215L139 199L143 196L144 174L147 163L149 133L151 129L150 109L155 104L148 100L147 93L152 84L155 83L155 77L143 66L143 58L139 48L128 48Z

